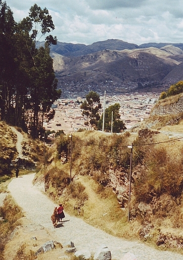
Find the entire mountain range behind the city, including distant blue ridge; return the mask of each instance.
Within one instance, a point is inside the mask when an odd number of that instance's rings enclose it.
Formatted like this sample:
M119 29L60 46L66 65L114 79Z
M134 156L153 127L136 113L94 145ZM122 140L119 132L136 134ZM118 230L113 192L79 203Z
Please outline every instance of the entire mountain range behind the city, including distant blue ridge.
M62 84L110 81L113 85L125 85L158 81L167 85L183 80L183 43L138 46L116 39L91 45L58 42L50 47L50 56Z

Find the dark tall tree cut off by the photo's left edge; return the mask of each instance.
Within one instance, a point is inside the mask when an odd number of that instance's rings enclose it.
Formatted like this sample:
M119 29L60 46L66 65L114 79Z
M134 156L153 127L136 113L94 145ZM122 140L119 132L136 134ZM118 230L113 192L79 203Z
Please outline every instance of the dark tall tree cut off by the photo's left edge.
M15 21L6 2L0 1L0 110L1 119L9 120L13 78L16 74Z

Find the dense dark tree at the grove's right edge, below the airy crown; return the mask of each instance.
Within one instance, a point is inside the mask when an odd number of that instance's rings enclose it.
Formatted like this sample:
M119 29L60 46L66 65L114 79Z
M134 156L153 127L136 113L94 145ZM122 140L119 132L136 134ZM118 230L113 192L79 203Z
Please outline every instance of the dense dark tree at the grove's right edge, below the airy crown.
M53 60L49 55L48 47L41 47L35 56L35 66L31 69L32 86L30 89L31 101L34 111L32 125L33 136L38 136L39 128L43 128L44 113L48 111L51 104L60 97L61 90L57 90L57 79L53 70ZM33 85L34 84L34 85ZM39 119L42 110L42 121ZM42 122L42 125L39 125Z

